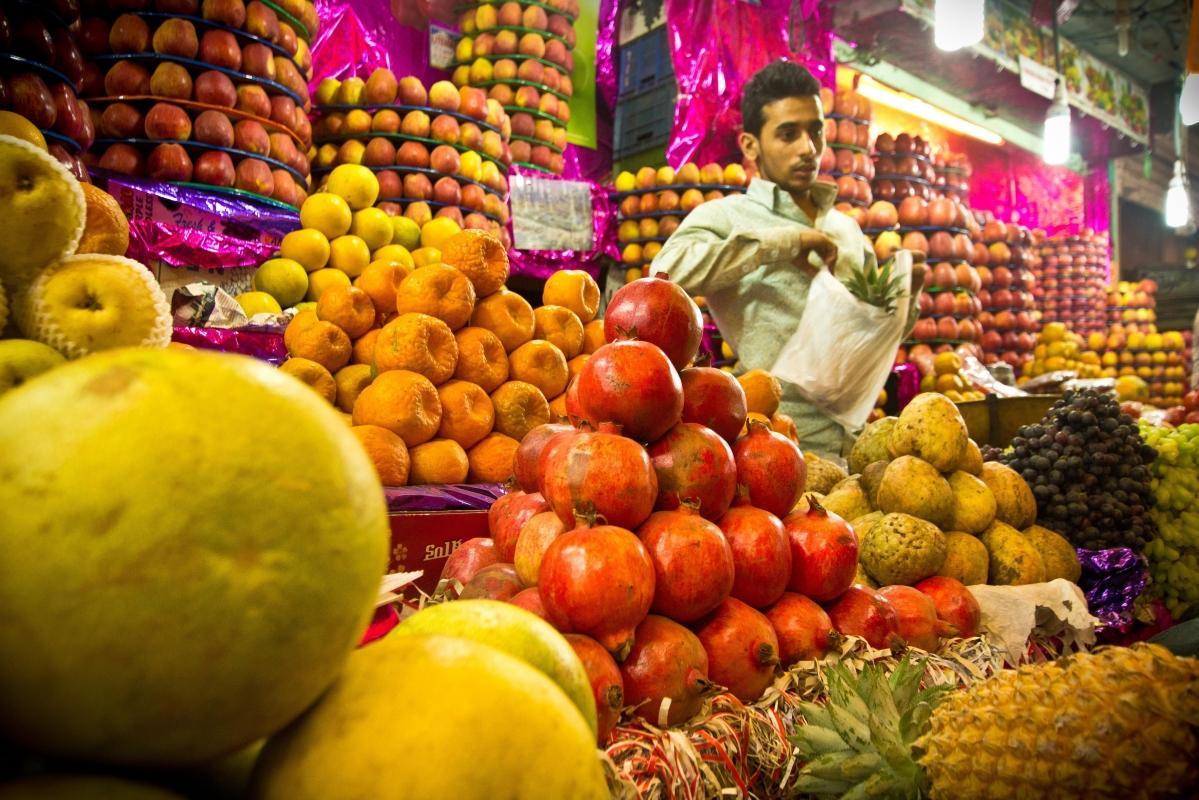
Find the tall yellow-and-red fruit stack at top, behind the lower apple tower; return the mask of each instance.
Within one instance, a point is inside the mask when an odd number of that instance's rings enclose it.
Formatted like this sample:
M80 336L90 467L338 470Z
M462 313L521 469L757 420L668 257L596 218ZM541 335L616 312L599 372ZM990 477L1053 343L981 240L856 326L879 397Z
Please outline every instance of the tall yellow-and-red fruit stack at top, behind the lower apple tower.
M574 85L574 20L578 0L458 8L463 37L453 83L476 86L512 118L512 161L560 175Z

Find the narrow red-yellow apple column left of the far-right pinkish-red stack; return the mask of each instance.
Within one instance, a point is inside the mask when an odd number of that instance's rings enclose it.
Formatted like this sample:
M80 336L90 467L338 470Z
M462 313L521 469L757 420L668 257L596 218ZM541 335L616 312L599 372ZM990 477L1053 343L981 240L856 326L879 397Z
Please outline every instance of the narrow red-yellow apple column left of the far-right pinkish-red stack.
M982 241L975 246L976 260L986 248L986 266L980 264L980 299L984 308L983 362L1004 361L1017 373L1032 360L1036 332L1040 330L1034 265L1037 263L1032 235L1016 223L988 219L982 227Z

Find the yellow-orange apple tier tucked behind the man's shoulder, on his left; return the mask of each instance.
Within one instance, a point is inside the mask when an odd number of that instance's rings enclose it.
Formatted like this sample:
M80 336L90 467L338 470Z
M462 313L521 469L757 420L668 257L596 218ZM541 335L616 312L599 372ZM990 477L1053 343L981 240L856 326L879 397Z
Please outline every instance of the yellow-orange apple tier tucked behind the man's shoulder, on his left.
M620 260L634 281L649 275L649 266L683 217L709 200L746 191L748 178L741 164L686 163L670 167L641 167L637 175L616 176L611 199L619 204Z

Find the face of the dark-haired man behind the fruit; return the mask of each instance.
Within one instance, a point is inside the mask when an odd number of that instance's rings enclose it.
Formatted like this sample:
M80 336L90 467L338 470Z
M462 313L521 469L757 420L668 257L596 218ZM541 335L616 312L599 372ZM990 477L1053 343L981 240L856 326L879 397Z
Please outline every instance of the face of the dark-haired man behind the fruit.
M763 107L761 134L741 134L741 150L758 172L793 194L817 180L824 154L824 108L819 95L784 97Z

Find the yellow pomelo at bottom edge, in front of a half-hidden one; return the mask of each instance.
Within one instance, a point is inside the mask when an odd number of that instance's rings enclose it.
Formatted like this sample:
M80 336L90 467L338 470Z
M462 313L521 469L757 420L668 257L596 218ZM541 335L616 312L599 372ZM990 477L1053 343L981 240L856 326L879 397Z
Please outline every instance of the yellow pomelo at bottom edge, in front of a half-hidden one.
M538 669L446 636L388 636L258 760L254 800L605 799L595 735Z

